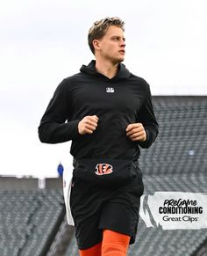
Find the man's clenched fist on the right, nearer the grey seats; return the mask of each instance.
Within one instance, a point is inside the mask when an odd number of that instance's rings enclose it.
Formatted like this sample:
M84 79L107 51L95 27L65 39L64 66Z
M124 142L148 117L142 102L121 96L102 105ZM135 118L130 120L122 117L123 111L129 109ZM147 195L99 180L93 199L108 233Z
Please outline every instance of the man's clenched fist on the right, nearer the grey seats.
M133 141L145 142L146 141L146 130L142 123L132 123L125 129L126 135Z

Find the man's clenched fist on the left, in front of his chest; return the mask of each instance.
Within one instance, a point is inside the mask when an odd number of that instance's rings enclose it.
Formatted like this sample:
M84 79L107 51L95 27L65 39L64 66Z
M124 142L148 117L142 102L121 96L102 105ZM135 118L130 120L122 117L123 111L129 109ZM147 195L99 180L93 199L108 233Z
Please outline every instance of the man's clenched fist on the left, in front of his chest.
M92 134L97 127L98 117L96 115L87 115L78 123L78 132L80 135Z

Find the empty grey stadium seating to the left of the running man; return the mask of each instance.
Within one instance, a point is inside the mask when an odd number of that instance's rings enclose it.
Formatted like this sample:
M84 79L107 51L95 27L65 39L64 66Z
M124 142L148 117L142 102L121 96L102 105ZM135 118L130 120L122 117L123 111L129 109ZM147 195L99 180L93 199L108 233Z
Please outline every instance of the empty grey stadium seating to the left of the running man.
M39 189L36 179L0 180L0 255L45 256L65 217L62 189Z

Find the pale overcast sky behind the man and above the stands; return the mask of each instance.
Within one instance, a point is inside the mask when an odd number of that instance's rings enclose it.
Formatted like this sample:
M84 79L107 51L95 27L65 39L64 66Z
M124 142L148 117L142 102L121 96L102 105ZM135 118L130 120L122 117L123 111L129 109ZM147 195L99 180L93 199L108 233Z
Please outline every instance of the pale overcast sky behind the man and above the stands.
M40 144L37 127L56 86L93 58L87 33L99 18L125 20L125 65L154 95L207 95L206 10L205 0L1 1L0 174L69 165L69 143Z

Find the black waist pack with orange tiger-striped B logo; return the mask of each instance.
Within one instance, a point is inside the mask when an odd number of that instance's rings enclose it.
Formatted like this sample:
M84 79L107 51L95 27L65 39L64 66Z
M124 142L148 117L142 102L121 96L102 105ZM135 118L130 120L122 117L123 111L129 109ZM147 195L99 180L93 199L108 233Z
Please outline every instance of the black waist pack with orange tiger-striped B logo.
M75 160L74 167L74 177L104 187L125 185L141 175L138 162L131 160L84 158Z

